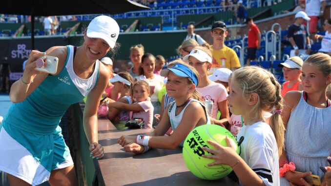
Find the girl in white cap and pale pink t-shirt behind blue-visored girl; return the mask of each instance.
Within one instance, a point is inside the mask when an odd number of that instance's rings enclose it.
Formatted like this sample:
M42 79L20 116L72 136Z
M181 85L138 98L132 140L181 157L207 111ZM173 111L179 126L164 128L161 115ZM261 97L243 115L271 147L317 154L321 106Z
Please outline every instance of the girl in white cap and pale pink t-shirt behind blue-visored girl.
M227 101L228 92L223 84L212 82L208 78L208 70L212 65L210 50L206 47L195 47L183 60L198 71L200 82L197 90L201 93L202 99L213 101L211 122L227 127L230 118ZM221 112L220 120L217 118L218 110Z

